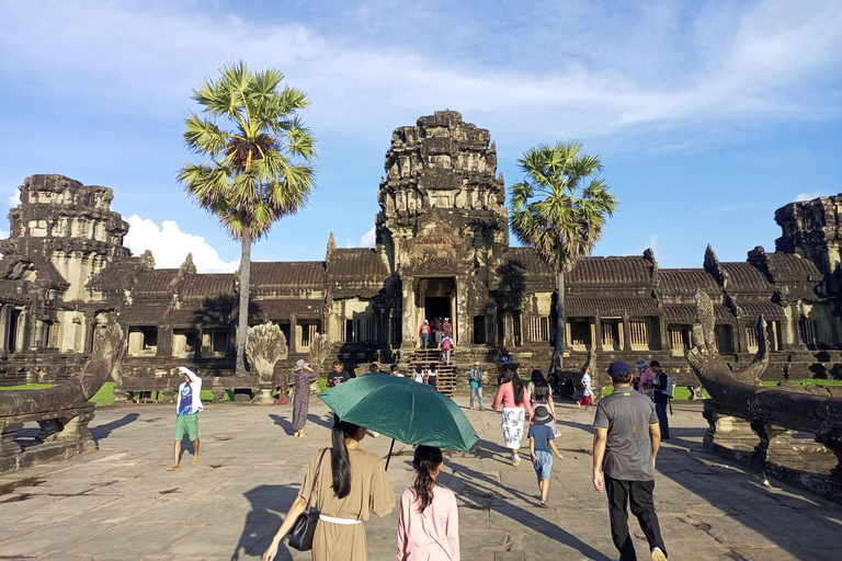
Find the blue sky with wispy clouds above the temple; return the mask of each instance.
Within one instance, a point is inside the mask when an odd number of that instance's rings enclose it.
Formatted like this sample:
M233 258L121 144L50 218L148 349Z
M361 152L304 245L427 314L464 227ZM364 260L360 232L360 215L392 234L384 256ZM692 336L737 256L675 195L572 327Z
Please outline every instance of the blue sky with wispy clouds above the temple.
M227 61L305 90L309 206L254 260L369 240L391 130L451 108L488 128L507 186L538 144L602 156L621 206L596 255L664 267L774 249L775 208L842 191L842 3L815 1L0 0L0 206L36 173L115 192L158 266L239 245L186 199L191 89ZM0 229L8 232L8 222ZM366 236L368 234L368 236Z

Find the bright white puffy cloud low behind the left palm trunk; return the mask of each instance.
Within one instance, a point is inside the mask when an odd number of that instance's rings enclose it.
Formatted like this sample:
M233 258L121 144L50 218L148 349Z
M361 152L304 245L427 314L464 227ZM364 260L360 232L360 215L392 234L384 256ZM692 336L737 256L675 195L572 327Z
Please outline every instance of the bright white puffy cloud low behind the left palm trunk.
M204 238L181 231L174 220L164 220L159 228L148 218L132 215L128 225L123 243L135 255L151 251L156 268L178 268L187 253L193 254L193 263L200 273L232 273L240 265L239 261L223 261Z

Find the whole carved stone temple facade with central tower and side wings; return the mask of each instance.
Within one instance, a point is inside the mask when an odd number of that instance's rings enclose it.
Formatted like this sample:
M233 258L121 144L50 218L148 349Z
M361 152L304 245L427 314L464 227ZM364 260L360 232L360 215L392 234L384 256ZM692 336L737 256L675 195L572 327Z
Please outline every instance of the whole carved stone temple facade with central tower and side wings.
M545 369L556 330L554 272L530 248L510 248L505 187L488 130L453 111L395 130L386 153L374 249L339 249L322 261L253 263L250 323L276 323L285 370L327 333L348 368L410 359L424 319L448 317L456 364L494 363L508 348ZM92 325L116 317L127 333L128 376L168 376L182 364L205 374L234 368L237 275L155 268L123 248L127 225L111 190L35 175L0 242L0 335L5 379L70 374L90 352ZM755 248L722 263L708 248L702 268L663 270L657 256L587 257L567 277L567 353L602 365L658 358L695 379L684 360L694 294L714 302L718 351L731 367L756 351L752 325L767 322L766 377L842 376L839 240L842 195L776 213L777 251ZM332 358L332 357L331 357ZM683 374L682 374L683 373ZM689 382L690 383L690 382Z

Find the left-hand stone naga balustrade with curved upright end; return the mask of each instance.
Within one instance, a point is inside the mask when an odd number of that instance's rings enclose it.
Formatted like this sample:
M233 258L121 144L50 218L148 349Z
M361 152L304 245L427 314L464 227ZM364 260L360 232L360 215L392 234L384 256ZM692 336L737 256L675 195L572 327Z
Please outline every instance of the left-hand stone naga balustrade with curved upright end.
M122 350L120 325L100 327L91 359L77 378L53 388L0 391L0 472L96 448L88 430L94 416L89 400L111 377ZM24 449L15 436L30 422L41 431L35 445Z

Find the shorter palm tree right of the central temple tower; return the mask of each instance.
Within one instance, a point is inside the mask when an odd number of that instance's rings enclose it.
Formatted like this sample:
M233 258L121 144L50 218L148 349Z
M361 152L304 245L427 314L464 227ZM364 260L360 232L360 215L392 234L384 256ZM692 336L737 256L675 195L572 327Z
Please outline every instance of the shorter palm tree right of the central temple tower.
M549 371L561 368L565 356L565 273L590 255L602 237L606 215L617 199L598 174L599 156L580 153L577 141L541 145L517 160L526 173L511 187L511 227L522 243L557 272L556 339Z

